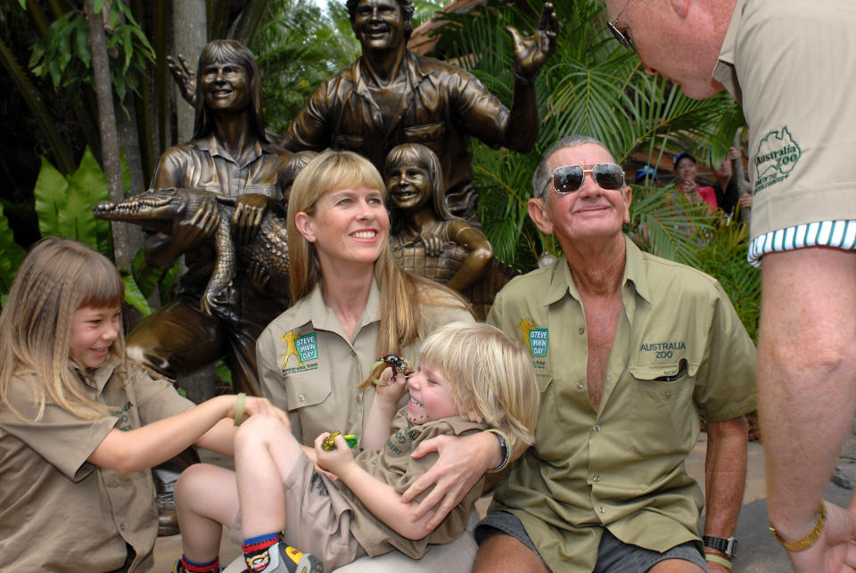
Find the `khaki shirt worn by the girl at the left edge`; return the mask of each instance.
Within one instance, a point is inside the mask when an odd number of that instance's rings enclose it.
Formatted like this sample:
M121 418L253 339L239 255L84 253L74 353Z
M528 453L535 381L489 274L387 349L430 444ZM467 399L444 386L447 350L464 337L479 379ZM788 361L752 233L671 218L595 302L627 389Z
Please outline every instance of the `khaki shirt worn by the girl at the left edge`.
M122 387L118 360L94 372L91 394L113 414L87 421L48 404L23 422L0 404L0 569L16 573L152 569L158 513L150 471L123 476L86 462L113 428L127 431L193 405L166 381L134 368ZM12 381L6 397L29 420L29 384Z

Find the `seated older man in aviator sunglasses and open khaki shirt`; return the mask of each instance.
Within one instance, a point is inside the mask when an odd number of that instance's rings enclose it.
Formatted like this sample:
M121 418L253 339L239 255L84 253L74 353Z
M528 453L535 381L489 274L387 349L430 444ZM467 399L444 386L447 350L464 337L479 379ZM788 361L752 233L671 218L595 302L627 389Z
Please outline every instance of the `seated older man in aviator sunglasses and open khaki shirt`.
M488 322L530 351L535 446L476 530L474 571L730 569L755 349L712 277L621 233L630 186L603 143L556 143L529 214L562 258L509 282ZM684 462L708 422L706 495ZM520 455L520 453L517 453Z

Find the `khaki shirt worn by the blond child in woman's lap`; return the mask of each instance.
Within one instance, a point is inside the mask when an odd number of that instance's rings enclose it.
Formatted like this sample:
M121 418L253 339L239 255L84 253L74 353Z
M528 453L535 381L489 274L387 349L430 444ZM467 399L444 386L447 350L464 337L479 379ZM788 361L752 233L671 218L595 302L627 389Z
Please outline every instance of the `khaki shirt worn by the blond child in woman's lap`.
M407 491L416 479L431 469L437 461L437 454L427 454L422 458L410 457L410 454L424 440L437 436L465 436L486 430L481 422L470 422L464 416L444 418L415 426L407 421L407 406L399 410L392 419L392 435L386 446L380 450L366 450L357 456L358 465L372 477L391 486L399 494ZM481 495L484 477L475 484L455 509L449 512L440 525L422 539L411 540L399 536L388 528L374 514L366 509L357 495L345 486L341 480L327 482L328 487L338 487L351 506L350 533L370 557L398 550L413 559L422 559L431 544L447 544L454 541L466 529L473 503ZM429 488L416 497L421 501L431 493Z

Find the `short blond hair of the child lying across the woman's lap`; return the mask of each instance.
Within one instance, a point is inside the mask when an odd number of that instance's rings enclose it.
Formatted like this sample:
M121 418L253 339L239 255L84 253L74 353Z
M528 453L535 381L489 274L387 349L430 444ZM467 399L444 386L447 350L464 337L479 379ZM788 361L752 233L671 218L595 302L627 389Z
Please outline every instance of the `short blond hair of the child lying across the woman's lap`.
M539 397L526 351L505 332L485 323L449 323L424 341L419 364L449 380L458 410L473 409L512 446L535 442Z

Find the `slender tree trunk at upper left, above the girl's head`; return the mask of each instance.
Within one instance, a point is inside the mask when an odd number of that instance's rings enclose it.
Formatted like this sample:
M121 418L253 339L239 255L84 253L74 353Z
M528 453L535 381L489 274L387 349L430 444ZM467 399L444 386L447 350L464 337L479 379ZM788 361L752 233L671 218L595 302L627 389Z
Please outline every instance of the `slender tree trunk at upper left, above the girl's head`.
M98 102L98 132L101 135L101 163L107 176L111 201L125 197L122 188L122 171L119 164L119 133L116 130L116 112L113 109L113 89L110 81L110 61L104 37L103 16L95 13L95 0L85 0L86 18L89 20L89 50L92 52L92 71L95 79L95 97ZM116 266L125 266L134 256L128 242L128 224L112 223L113 259Z

